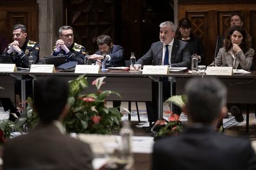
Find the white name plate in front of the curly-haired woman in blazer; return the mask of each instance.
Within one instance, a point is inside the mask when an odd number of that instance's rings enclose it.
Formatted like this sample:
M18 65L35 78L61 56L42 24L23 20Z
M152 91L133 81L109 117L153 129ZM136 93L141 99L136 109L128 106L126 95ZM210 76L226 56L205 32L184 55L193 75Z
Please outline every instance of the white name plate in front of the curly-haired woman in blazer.
M222 76L232 76L232 67L207 67L205 71L207 75L222 75Z

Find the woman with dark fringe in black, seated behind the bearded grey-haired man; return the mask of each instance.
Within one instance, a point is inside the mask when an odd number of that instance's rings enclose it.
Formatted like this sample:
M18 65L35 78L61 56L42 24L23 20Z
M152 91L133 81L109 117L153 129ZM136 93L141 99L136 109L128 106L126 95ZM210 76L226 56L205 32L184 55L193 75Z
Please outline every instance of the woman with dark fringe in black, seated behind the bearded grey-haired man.
M197 54L200 56L200 60L205 59L203 42L198 36L193 34L192 25L189 19L182 18L179 20L179 25L176 30L175 37L182 41L188 42L187 47L191 55Z

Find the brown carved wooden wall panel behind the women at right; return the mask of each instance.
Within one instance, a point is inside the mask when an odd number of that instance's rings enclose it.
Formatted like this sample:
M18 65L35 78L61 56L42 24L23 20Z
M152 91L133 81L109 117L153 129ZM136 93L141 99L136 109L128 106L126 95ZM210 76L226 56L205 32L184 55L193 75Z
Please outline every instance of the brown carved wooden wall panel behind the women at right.
M207 65L213 61L216 39L218 35L226 34L230 25L228 18L233 13L240 13L244 16L244 28L252 36L252 46L255 49L256 1L237 3L231 1L182 0L178 2L178 19L188 17L192 20L193 30L196 29L196 34L203 39ZM201 23L204 26L200 26Z

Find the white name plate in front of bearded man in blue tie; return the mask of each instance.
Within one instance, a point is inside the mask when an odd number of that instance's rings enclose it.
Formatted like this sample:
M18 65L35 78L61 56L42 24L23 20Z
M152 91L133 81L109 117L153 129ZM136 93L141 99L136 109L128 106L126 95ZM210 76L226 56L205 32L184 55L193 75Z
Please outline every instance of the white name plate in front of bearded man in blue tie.
M143 75L167 75L169 73L168 65L144 65Z

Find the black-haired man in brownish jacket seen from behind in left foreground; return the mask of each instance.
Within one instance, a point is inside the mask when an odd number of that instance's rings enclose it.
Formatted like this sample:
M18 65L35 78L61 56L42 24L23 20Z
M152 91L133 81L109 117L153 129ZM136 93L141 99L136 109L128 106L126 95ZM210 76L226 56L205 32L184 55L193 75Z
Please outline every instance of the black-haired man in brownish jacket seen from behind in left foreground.
M38 79L34 108L40 123L28 134L4 144L4 169L93 169L85 142L64 134L62 119L69 113L69 85L56 77Z

